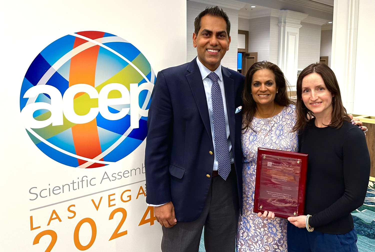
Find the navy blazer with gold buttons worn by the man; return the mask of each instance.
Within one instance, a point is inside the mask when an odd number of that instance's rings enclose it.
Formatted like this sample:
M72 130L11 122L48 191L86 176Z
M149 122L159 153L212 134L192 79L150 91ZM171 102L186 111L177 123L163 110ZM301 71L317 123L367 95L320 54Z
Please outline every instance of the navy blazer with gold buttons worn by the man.
M222 67L230 139L242 210L241 126L244 76ZM207 99L196 63L159 72L147 119L145 172L148 204L172 201L178 221L201 214L212 174L214 151Z

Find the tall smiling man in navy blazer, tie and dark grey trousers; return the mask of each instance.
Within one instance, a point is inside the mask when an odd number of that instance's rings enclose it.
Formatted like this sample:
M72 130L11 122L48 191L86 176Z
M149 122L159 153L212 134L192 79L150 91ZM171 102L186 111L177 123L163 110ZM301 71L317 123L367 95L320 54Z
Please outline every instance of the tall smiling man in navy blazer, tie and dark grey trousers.
M244 76L222 67L230 23L210 7L195 22L198 57L157 75L148 111L147 203L162 225L162 251L234 251L242 208Z

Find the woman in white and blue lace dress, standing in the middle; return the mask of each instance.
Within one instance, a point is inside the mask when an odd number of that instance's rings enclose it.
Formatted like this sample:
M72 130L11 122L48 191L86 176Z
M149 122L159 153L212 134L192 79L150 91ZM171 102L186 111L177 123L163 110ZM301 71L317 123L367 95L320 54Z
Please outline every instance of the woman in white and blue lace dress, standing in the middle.
M287 220L253 213L258 147L297 151L296 107L288 98L279 67L263 61L251 66L243 91L243 214L239 217L240 252L286 252ZM268 217L268 218L267 218ZM264 219L265 218L265 219Z

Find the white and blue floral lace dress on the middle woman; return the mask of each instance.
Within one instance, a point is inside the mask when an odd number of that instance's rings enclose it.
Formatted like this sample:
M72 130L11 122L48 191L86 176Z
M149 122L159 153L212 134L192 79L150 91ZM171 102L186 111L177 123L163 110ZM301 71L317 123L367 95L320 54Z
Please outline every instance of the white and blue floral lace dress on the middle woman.
M296 106L288 105L270 118L253 118L254 130L243 130L243 215L239 217L237 249L239 252L286 252L287 220L263 220L253 213L258 147L297 151L298 136L290 132L296 123Z

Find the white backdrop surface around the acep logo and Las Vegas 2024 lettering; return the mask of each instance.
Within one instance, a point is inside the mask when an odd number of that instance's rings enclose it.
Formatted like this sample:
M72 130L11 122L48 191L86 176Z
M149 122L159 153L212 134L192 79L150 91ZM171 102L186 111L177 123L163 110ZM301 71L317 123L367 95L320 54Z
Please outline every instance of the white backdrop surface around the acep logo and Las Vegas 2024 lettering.
M105 31L128 40L144 54L156 73L186 63L186 0L2 1L0 26L3 33L0 42L3 48L0 63L3 88L0 99L1 251L45 251L51 236L42 236L35 245L33 240L38 233L47 229L57 233L52 251L78 251L73 234L79 220L86 217L96 222L97 230L95 242L89 251L160 251L162 232L159 223L138 226L147 208L145 196L137 197L140 186L145 186L145 182L138 183L145 179L144 173L133 174L123 180L105 179L101 183L105 172L112 174L142 168L145 140L133 153L114 164L91 169L63 165L43 154L28 136L20 116L20 89L28 67L39 52L58 38L78 31ZM237 23L234 22L236 29ZM93 183L96 185L30 200L30 196L34 196L29 193L31 187L37 187L33 190L38 194L39 190L45 188L42 195L48 195L48 188L52 190L55 185L71 183L84 175L95 177ZM137 184L111 189L134 182ZM126 203L120 200L121 192L125 189L131 189L132 196L131 201ZM90 193L96 194L72 199ZM115 195L108 196L112 193ZM126 195L123 195L124 199ZM99 204L101 197L101 205L96 210L91 199ZM110 201L109 198L115 200ZM68 199L71 201L31 211L32 208ZM77 215L69 219L68 216L73 213L67 208L72 204L75 207L71 210L75 210ZM120 213L114 219L108 219L111 211L117 207L127 211L119 231L127 230L127 234L109 241L121 220ZM52 210L58 213L61 222L54 219L47 225ZM30 230L30 216L33 216L33 227L40 228ZM92 229L85 222L79 232L82 245L87 245L91 237Z

